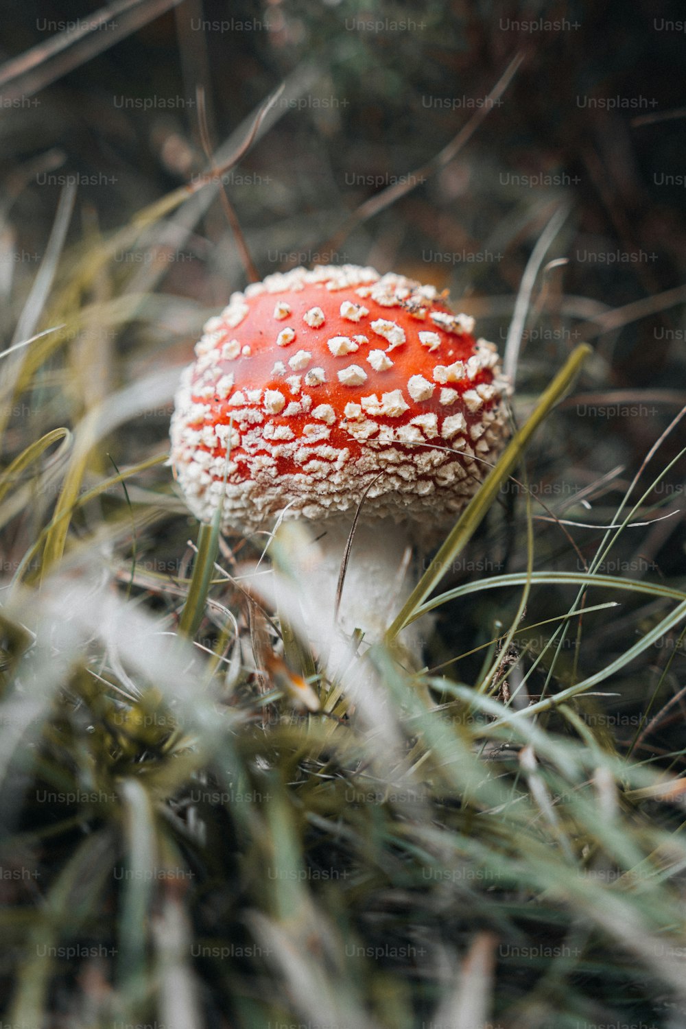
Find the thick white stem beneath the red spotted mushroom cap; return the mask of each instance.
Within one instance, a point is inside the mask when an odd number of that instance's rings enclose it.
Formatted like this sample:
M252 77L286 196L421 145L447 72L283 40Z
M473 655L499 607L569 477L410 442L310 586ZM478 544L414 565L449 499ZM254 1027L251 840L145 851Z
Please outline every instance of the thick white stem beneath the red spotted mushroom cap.
M332 635L336 587L351 526L352 519L331 519L306 530L311 542L301 552L299 576L314 640L325 641ZM381 640L411 593L419 564L405 524L392 519L358 523L344 580L338 628L348 636L361 629L365 643ZM429 618L422 618L399 636L416 667L422 664L429 626Z

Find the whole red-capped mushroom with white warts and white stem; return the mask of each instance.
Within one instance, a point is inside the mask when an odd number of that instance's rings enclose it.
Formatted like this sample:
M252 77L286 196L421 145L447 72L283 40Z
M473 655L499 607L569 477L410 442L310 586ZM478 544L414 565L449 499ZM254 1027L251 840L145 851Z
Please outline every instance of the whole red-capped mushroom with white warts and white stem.
M339 623L376 636L402 600L406 546L464 507L507 436L499 356L473 326L435 287L353 264L233 293L176 396L171 463L188 506L209 522L221 502L224 526L244 529L284 511L312 525L330 624L366 490Z

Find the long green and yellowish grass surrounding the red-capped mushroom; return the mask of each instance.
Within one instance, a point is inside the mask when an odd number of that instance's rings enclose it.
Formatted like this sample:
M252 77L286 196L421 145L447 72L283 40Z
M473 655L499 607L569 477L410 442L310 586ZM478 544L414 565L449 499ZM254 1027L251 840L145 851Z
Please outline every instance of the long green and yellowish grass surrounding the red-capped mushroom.
M244 155L256 116L211 164ZM262 107L257 136L282 116ZM526 226L527 254L503 295L464 303L516 374L512 442L386 639L327 668L308 583L289 584L291 527L198 528L165 463L180 368L218 307L164 260L170 239L200 246L203 218L226 239L200 182L113 228L66 189L2 313L3 1025L677 1029L684 359L642 390L615 351L682 292L563 289L558 198L493 228L515 252ZM364 261L381 214L392 251L419 217L391 211L393 189L317 238L354 227ZM322 227L311 209L296 223L294 197L284 248ZM265 218L246 230L258 268ZM656 413L604 420L619 398ZM417 670L398 642L429 612Z

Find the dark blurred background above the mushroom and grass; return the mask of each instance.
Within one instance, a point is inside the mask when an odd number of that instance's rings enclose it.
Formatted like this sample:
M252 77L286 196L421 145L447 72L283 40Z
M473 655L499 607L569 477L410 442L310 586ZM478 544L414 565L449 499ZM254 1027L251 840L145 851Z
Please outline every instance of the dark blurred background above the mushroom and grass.
M50 23L86 19L94 9L6 5L2 57L44 43L55 34ZM15 175L57 148L61 172L111 177L84 184L79 203L93 205L112 228L204 167L197 81L219 145L283 78L308 70L314 80L301 97L310 106L284 114L244 161L239 171L254 182L229 183L265 273L275 244L315 252L385 179L435 154L472 112L466 104L483 98L522 50L501 106L459 156L355 233L340 256L365 260L372 250L385 268L402 265L458 292L510 293L532 241L566 200L572 214L556 242L570 258L565 290L621 305L683 282L684 187L665 177L683 176L684 39L656 28L679 21L680 11L678 3L648 2L182 3L41 90L36 107L3 109L0 168ZM517 23L536 20L562 24L517 31ZM360 27L369 21L385 27ZM408 27L394 29L397 23ZM590 106L608 100L623 107ZM145 101L155 108L140 109ZM315 107L318 101L329 105ZM164 106L170 103L178 106ZM656 120L640 123L642 116ZM537 174L561 184L511 181ZM32 251L44 245L56 202L57 187L35 180L15 201L10 220ZM210 217L202 230L216 244L225 222ZM501 259L471 267L427 259L429 251L482 251L491 241ZM577 250L642 248L646 257L624 268L575 260ZM213 271L213 247L202 256ZM193 276L185 291L196 295L210 282ZM183 291L183 282L173 287ZM661 316L675 319L674 311ZM620 381L646 384L646 349L650 372L664 369L671 348L657 345L652 328L650 320L634 325L621 341Z

